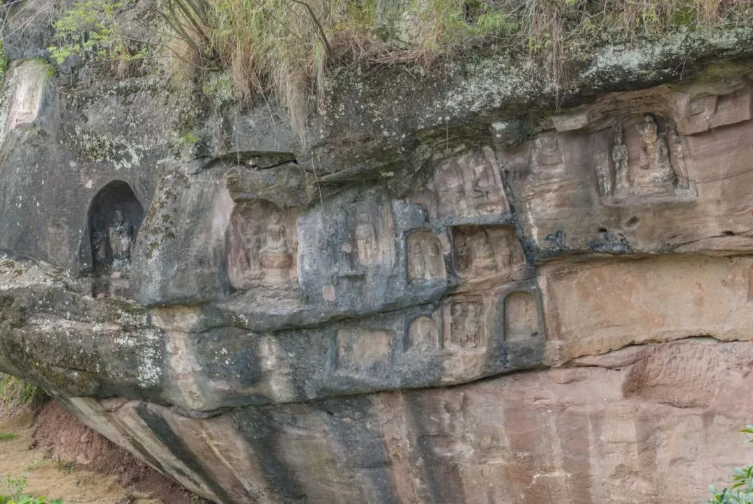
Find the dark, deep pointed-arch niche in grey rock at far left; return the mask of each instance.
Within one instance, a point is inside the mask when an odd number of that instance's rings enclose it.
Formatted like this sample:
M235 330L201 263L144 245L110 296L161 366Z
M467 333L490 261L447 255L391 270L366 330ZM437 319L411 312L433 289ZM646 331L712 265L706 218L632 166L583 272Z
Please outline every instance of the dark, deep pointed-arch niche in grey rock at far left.
M144 220L144 207L130 186L117 180L93 198L88 215L92 295L127 295L133 243Z

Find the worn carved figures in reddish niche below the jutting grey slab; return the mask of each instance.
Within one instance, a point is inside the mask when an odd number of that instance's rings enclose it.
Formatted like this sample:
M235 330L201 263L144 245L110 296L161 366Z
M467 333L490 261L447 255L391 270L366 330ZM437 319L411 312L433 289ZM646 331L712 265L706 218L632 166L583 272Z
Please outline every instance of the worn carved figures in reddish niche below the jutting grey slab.
M260 225L253 212L236 223L235 257L230 259L230 282L236 289L289 283L293 257L288 249L281 212L273 211L266 226Z

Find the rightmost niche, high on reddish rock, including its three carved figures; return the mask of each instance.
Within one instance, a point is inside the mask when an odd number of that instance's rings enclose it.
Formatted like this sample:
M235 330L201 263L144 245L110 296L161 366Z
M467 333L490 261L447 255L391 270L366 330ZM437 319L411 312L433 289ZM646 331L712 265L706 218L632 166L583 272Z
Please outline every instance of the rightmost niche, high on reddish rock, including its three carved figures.
M682 138L672 121L642 115L608 134L607 155L595 156L599 196L611 203L629 203L694 195Z

